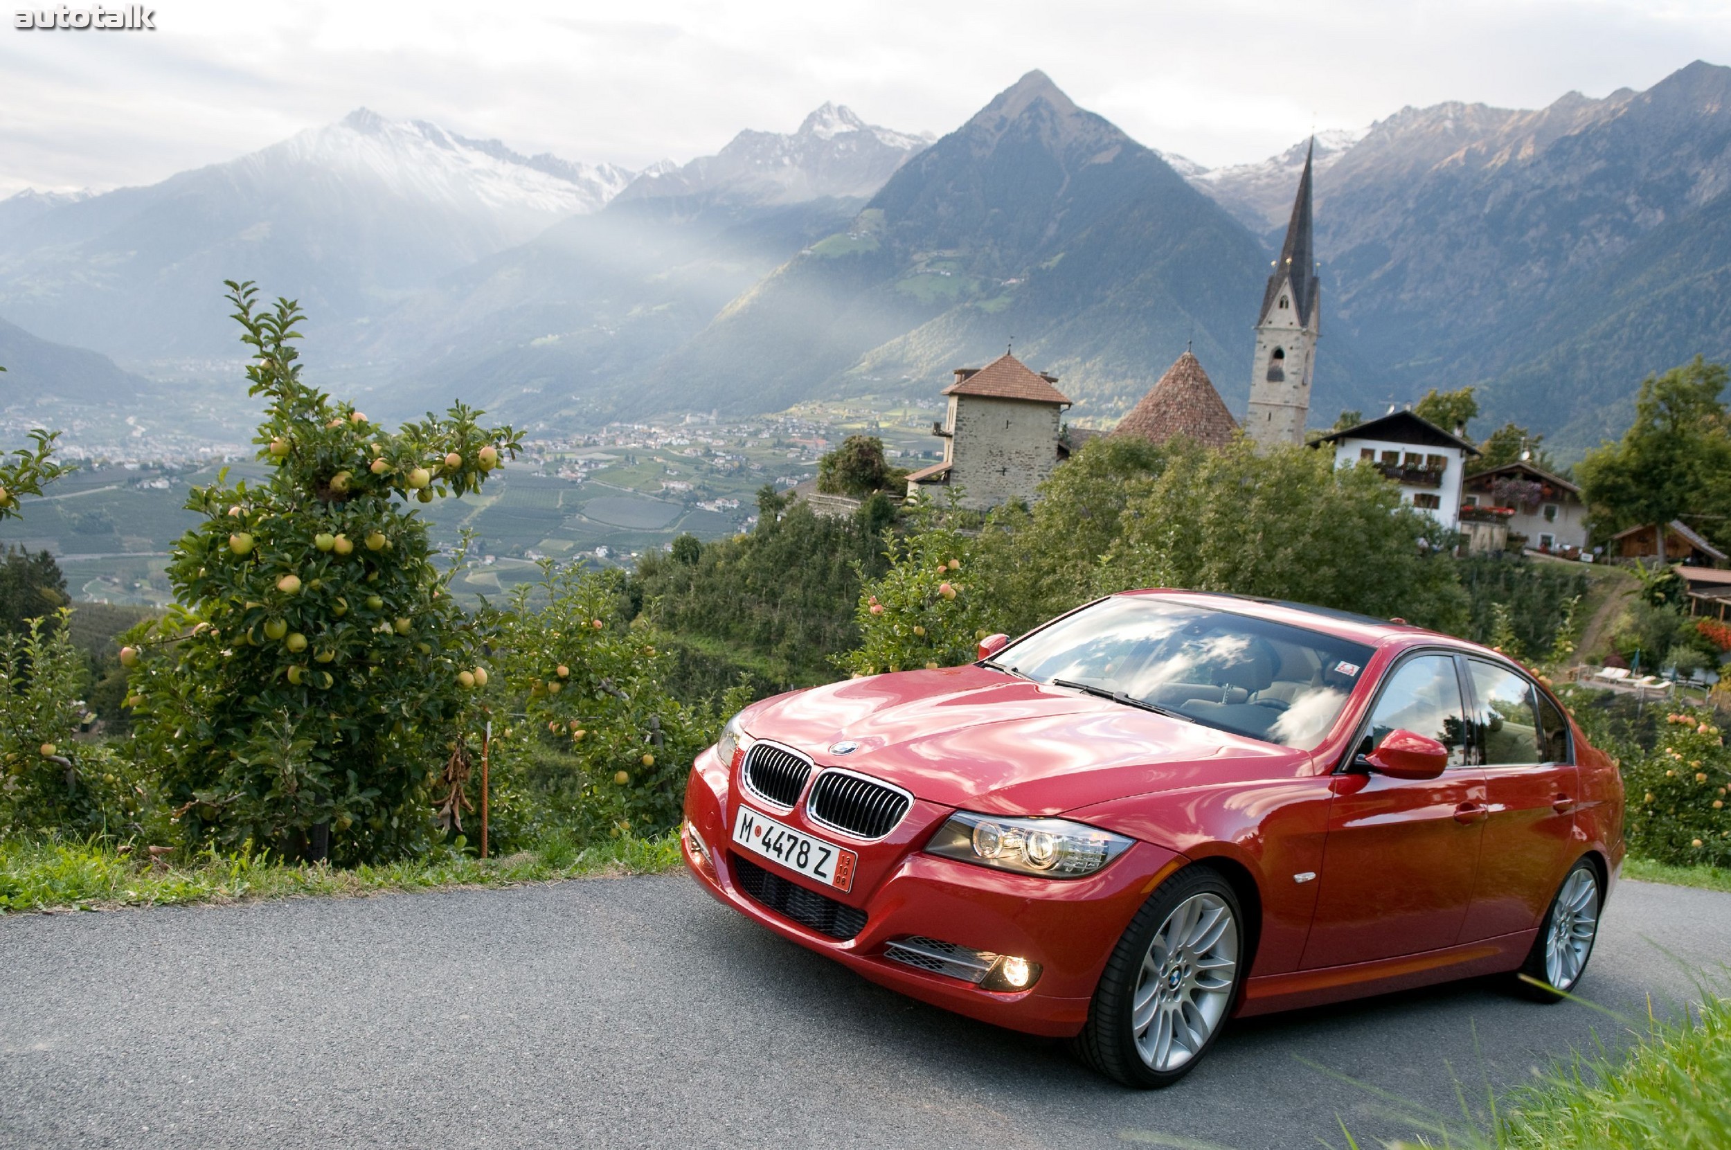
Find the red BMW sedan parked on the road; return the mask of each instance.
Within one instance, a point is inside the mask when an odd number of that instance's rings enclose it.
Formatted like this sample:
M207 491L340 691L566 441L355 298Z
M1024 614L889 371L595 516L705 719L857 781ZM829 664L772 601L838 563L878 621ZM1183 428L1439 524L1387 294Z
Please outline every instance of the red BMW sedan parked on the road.
M1610 757L1496 651L1142 591L748 707L692 767L684 852L763 927L1146 1088L1232 1017L1573 989L1622 819Z

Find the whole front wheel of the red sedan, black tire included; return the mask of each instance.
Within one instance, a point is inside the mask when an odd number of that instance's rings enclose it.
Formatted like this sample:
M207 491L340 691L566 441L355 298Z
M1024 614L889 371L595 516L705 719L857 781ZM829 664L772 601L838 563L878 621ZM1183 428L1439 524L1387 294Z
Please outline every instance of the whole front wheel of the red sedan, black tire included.
M1248 939L1238 895L1219 873L1191 866L1163 882L1106 959L1077 1055L1137 1089L1177 1082L1226 1029L1248 973Z

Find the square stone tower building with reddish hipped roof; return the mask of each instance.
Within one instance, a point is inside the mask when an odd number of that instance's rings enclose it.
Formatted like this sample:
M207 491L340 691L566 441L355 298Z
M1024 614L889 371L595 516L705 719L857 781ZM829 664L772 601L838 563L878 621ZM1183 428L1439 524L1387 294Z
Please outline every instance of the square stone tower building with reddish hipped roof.
M956 383L943 388L949 412L931 428L943 438L943 462L907 476L907 494L959 487L961 506L980 511L1033 502L1066 447L1059 417L1070 400L1054 383L1058 376L1007 353L985 367L957 367Z

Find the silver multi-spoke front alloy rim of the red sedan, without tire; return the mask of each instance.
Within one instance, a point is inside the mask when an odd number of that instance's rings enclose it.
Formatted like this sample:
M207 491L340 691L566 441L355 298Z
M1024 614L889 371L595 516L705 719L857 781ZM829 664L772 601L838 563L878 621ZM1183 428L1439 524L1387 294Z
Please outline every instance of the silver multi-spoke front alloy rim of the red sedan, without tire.
M1208 1044L1232 1003L1238 959L1238 916L1217 894L1184 899L1160 923L1130 1006L1149 1069L1175 1070Z

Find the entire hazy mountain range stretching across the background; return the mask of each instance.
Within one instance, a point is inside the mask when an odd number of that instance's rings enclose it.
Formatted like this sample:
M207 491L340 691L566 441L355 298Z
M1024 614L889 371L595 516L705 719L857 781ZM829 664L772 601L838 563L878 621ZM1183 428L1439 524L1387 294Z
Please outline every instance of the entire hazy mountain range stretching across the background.
M545 426L930 398L1011 341L1084 421L1186 346L1241 410L1307 147L1208 170L1040 73L936 140L826 104L644 171L362 109L152 187L0 201L0 315L144 376L234 379L220 281L258 279L369 409L462 395ZM1485 424L1568 454L1646 372L1731 353L1731 69L1407 107L1319 135L1314 165L1316 426L1475 384Z

